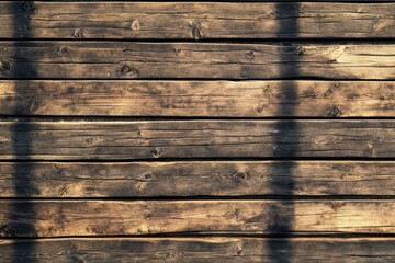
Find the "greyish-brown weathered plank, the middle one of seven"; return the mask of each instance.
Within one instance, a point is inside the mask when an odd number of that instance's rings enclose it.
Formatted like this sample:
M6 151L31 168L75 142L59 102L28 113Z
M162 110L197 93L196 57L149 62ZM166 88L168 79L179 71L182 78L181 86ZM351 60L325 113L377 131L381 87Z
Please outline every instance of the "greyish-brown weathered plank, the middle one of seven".
M395 157L395 121L1 122L2 160Z

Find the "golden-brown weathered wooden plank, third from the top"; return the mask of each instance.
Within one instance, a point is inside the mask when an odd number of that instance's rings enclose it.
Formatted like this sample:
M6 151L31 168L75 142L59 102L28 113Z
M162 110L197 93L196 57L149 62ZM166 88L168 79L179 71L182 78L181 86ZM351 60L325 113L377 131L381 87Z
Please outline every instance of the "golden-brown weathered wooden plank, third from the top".
M3 115L394 117L394 108L390 81L0 81Z

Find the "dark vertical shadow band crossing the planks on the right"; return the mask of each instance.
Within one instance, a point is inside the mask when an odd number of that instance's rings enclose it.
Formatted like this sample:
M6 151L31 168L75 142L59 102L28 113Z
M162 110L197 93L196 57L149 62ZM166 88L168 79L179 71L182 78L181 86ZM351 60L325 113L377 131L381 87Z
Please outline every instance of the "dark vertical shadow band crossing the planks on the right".
M282 18L281 14L287 13L290 16ZM275 14L279 20L278 36L286 34L287 37L297 36L298 24L297 15L300 13L298 3L276 3ZM292 35L290 35L290 32ZM297 76L298 65L297 56L302 55L302 50L298 47L283 46L279 60L285 61L282 68L279 68L281 78L289 78ZM290 59L290 58L293 59ZM290 61L294 61L290 64ZM285 65L285 66L284 66ZM291 81L284 81L280 84L280 93L283 96L284 103L280 103L278 113L286 112L290 116L296 115L297 103L290 103L292 98L296 98L297 84ZM269 206L268 215L273 217L273 220L268 224L269 233L280 233L281 240L268 241L268 252L270 253L268 259L271 263L290 263L292 262L292 240L290 235L293 232L294 221L294 201L292 196L294 194L294 176L296 170L296 163L293 161L298 156L297 138L294 138L298 134L297 122L278 121L273 127L276 130L273 141L273 156L280 158L286 158L287 162L274 162L271 170L273 174L281 174L281 176L271 176L270 188L272 195L279 195L282 193L290 199L278 201Z

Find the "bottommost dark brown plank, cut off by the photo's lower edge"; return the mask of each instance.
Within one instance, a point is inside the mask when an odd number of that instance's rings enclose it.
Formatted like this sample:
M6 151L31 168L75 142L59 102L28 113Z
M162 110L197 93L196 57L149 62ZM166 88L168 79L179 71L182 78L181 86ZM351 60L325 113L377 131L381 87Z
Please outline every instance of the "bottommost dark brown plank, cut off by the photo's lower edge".
M388 263L395 239L72 238L0 240L11 262L328 262ZM314 251L314 252L313 252ZM341 260L340 260L341 259ZM282 260L282 261L281 261Z

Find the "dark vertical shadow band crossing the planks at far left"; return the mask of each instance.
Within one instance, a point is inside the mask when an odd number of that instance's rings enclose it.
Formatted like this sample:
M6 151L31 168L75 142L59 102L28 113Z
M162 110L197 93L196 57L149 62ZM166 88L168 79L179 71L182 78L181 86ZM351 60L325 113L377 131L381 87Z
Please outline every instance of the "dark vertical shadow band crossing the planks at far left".
M13 14L13 38L18 39L21 37L29 38L30 30L31 30L31 19L34 15L35 7L34 2L32 1L24 1L24 2L12 2L11 8ZM15 42L16 43L16 42ZM33 43L24 42L29 45ZM24 44L26 45L26 44ZM27 46L29 46L27 45ZM15 72L18 71L27 71L29 75L33 78L36 77L36 69L34 65L24 62L21 65L19 61L20 57L23 57L24 54L20 54L21 52L14 49L13 54L13 61L14 65L12 66L13 76L16 76ZM26 60L27 61L27 60ZM21 82L15 82L14 90L18 95L24 96L29 95L34 98L32 94L26 94L26 92L32 92L29 88L29 80L23 81L24 84ZM22 100L19 100L22 101ZM20 115L23 113L23 108L26 108L26 105L22 105L18 103L14 108L14 115ZM33 164L29 161L29 157L32 153L31 150L31 138L30 134L34 129L34 124L30 122L14 122L11 128L12 133L12 141L13 141L13 156L15 159L20 159L23 157L26 159L26 162L15 162L14 164L14 180L13 180L13 187L15 197L26 198L23 202L13 202L10 207L10 215L9 220L11 221L11 229L13 237L21 237L25 235L35 235L35 227L34 224L31 224L32 220L26 220L24 222L21 220L23 218L35 218L34 206L33 203L29 202L29 197L32 197L34 192L34 184L31 181L31 174L33 172ZM29 222L30 221L30 222ZM35 243L33 241L24 242L23 247L18 245L14 243L13 247L13 254L12 254L12 262L13 263L21 263L21 262L37 262L36 253L35 253Z

